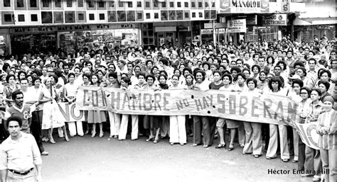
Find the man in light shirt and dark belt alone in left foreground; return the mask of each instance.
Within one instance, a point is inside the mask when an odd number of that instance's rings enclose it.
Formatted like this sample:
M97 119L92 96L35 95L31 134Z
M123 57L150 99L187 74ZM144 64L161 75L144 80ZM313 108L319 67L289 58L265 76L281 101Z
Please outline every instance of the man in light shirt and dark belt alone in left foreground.
M6 120L10 137L0 147L1 181L42 181L41 154L33 136L21 132L22 120Z

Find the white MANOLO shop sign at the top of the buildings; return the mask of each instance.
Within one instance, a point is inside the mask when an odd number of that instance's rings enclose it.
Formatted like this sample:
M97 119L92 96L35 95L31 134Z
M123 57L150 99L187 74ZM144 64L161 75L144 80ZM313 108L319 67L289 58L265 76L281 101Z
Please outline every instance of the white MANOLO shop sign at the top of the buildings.
M269 13L269 0L220 0L220 13Z

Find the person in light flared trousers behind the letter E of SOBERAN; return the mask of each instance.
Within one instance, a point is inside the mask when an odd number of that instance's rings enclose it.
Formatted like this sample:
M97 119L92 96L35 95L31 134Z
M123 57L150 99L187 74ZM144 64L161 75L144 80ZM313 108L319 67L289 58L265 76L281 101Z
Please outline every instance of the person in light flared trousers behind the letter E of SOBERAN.
M257 89L257 79L247 79L247 92L260 96L262 91ZM243 154L253 154L255 158L262 156L262 131L261 123L243 122L245 127L245 147L243 147Z

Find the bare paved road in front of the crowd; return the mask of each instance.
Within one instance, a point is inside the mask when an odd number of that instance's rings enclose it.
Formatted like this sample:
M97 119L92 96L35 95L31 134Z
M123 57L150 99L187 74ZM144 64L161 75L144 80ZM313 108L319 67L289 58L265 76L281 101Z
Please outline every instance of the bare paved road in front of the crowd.
M129 135L127 136L129 137ZM235 150L171 146L139 140L122 142L108 137L73 137L44 143L49 156L43 157L44 181L311 181L292 174L296 164L281 159L255 159ZM291 174L268 174L268 169L290 170Z

